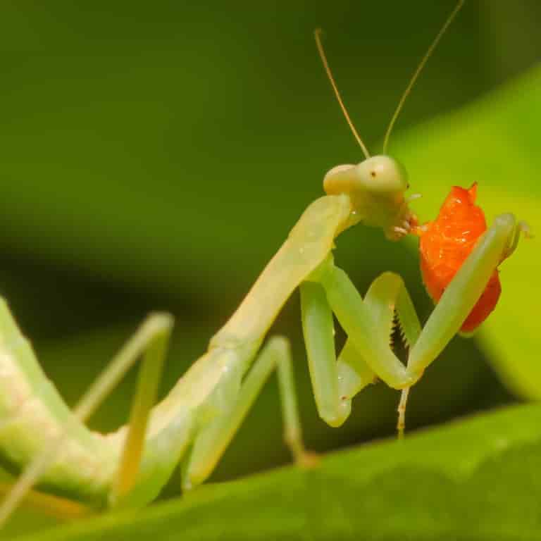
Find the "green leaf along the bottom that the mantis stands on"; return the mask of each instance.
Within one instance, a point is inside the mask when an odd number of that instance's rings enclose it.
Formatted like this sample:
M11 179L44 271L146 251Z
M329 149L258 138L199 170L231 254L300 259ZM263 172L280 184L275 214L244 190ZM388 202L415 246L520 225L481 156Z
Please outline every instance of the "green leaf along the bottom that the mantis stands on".
M20 541L534 539L540 415L504 409Z

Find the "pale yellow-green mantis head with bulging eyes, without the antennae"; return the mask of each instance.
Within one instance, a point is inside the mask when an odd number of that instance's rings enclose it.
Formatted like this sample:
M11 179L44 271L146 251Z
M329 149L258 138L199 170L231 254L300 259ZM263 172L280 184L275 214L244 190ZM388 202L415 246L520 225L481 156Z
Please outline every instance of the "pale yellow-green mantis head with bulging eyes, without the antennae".
M325 175L323 188L328 195L349 195L354 223L382 228L390 240L407 235L418 223L404 199L409 188L406 170L390 156L371 156L356 166L336 166Z

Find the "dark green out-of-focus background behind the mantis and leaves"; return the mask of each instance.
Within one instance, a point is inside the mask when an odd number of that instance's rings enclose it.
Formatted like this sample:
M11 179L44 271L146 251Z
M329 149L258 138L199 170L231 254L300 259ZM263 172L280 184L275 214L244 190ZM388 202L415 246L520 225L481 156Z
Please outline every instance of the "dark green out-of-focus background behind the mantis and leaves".
M313 29L325 30L352 118L368 147L378 149L411 73L453 6L453 0L1 6L0 292L68 402L154 309L177 318L166 392L204 352L304 207L322 194L326 170L362 158L325 79ZM406 102L390 151L410 126L532 66L540 16L535 0L466 2ZM521 136L520 124L509 126L514 134ZM400 158L407 168L407 154ZM455 158L449 151L449 163ZM415 176L410 180L415 192ZM487 190L495 182L490 175L474 180ZM431 182L435 196L419 206L422 219L433 218L449 189L445 175ZM494 211L514 210L512 201L503 205ZM339 240L336 256L361 292L384 270L401 273L425 319L431 306L415 247L414 240L392 244L359 227ZM356 399L342 429L318 420L298 305L295 294L273 332L293 343L309 446L324 451L392 434L398 395L383 385ZM513 400L487 363L489 352L478 339L453 340L412 393L410 427ZM125 420L132 383L128 378L93 418L95 428ZM213 479L288 461L280 433L273 382Z

